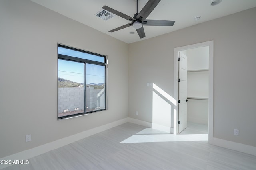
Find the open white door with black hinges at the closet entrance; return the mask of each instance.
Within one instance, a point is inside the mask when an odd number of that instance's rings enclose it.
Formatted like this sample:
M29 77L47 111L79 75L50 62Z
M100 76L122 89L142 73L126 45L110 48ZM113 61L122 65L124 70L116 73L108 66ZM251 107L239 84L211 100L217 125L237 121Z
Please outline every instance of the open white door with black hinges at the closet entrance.
M179 52L178 133L187 127L187 56Z

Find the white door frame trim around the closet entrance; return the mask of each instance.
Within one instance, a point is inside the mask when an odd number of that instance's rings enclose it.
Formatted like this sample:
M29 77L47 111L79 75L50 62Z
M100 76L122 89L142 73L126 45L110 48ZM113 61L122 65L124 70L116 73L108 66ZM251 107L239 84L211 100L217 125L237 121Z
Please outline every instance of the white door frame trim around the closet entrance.
M182 47L174 48L174 98L176 100L176 107L174 108L174 121L173 121L173 133L178 134L178 52L188 49L194 49L198 47L209 46L209 116L208 116L208 142L213 139L213 41L206 41L202 43L186 45Z

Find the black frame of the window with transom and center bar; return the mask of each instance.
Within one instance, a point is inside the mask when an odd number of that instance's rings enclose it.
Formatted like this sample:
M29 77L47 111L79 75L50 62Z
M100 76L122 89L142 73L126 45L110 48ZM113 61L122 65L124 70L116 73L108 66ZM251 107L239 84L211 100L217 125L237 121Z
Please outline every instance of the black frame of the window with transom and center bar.
M69 47L69 46L61 45L61 44L58 44L58 47L62 47L62 48L71 49L71 50L74 50L74 51L79 51L79 52L82 52L82 53L87 53L87 54L91 54L91 55L104 57L104 63L102 63L102 62L99 62L99 61L92 61L92 60L88 60L88 59L82 59L82 58L78 58L78 57L72 57L72 56L69 56L69 55L63 55L63 54L57 53L58 59L67 60L67 61L74 61L74 62L85 64L85 66L84 66L84 112L59 117L58 110L57 110L58 120L66 119L66 118L72 118L72 117L78 117L80 115L87 115L87 114L90 114L90 113L95 113L95 112L98 112L98 111L107 110L107 64L106 64L107 63L107 56L106 55L100 55L100 54L97 54L97 53L92 53L92 52L81 50L81 49L76 49L74 47ZM58 47L57 47L57 51L58 51ZM58 63L58 59L57 59L57 63ZM94 64L94 65L105 66L105 82L104 82L105 83L105 108L104 109L98 109L98 110L94 110L94 111L86 111L86 91L87 91L86 90L86 64ZM58 68L58 66L57 66L57 68ZM57 71L57 74L58 74L58 71ZM58 77L58 75L57 75L57 77ZM58 78L57 78L57 86L58 86ZM58 92L57 95L59 95L58 90L59 90L59 88L57 88L57 92ZM58 96L57 96L57 99L59 100ZM58 101L57 101L57 104L58 104ZM58 107L59 107L59 104L57 106L57 109L58 109Z

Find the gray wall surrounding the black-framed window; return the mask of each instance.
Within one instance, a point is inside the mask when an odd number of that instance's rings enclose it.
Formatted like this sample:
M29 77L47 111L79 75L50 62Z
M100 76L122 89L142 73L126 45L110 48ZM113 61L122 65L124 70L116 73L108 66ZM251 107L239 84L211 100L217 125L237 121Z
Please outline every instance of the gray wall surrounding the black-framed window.
M108 56L108 110L57 120L57 43ZM0 81L2 158L128 117L128 44L29 0L0 0Z

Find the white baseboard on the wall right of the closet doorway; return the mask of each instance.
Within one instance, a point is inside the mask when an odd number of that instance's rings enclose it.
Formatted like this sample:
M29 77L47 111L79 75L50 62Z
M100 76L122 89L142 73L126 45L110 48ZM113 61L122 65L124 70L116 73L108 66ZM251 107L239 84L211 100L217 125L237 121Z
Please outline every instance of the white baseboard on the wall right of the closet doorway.
M243 152L247 154L251 154L256 156L256 147L250 146L250 145L244 145L242 143L236 143L232 141L227 141L219 138L213 137L208 141L212 145L216 145L219 147L227 148L227 149L232 149L236 150L238 152Z

